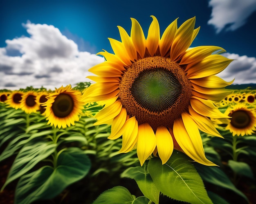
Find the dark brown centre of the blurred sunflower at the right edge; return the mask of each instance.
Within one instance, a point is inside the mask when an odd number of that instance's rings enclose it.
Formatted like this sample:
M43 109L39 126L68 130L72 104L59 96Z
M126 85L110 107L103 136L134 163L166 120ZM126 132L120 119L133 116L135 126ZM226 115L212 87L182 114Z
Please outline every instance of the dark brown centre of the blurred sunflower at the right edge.
M231 114L231 125L236 128L245 128L251 123L249 114L243 110L237 110Z

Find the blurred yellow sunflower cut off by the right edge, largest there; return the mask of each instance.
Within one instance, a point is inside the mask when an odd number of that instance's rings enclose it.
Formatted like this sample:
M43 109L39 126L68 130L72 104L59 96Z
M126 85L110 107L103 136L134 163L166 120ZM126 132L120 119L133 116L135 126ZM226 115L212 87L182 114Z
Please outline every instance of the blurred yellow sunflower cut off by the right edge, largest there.
M228 107L225 114L230 116L230 122L226 123L225 129L233 136L251 135L256 131L256 111L254 106L245 103Z

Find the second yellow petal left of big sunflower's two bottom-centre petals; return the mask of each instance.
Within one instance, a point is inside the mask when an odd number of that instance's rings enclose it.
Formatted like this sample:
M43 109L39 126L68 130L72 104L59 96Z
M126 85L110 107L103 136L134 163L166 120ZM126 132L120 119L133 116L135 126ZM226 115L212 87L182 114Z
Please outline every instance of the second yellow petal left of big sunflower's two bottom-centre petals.
M124 123L126 122L126 117L126 109L122 108L121 112L114 118L112 122L111 134L108 137L108 139L115 140L123 134L123 130L121 130L121 128L124 126Z

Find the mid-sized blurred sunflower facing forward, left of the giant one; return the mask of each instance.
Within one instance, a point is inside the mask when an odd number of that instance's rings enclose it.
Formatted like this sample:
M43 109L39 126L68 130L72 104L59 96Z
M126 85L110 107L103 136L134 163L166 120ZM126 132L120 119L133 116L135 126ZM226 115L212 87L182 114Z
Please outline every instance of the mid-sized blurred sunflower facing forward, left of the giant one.
M72 90L71 85L61 86L46 98L48 100L42 105L45 106L43 115L48 120L47 124L65 128L79 121L84 104L80 91Z

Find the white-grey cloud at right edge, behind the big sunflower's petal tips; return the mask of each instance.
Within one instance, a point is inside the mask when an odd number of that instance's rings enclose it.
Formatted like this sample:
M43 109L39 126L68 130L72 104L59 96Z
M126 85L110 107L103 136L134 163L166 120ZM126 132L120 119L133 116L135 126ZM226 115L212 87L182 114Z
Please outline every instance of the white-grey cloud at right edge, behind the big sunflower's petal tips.
M218 74L226 81L232 81L234 84L256 83L256 58L239 56L238 54L222 54L229 59L234 59L229 66Z

